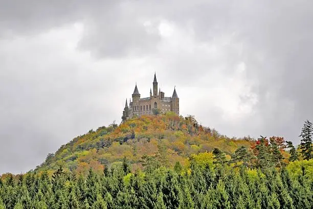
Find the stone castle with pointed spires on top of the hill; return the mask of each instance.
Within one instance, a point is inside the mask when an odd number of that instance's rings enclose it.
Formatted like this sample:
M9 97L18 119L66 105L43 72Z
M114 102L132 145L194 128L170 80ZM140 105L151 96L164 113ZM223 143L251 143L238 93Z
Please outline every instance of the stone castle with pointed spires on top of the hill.
M132 101L129 100L129 107L126 99L125 108L122 116L123 122L126 121L128 118L132 118L133 116L152 114L157 115L159 113L166 113L168 111L172 111L177 115L180 114L180 99L177 96L175 87L172 97L165 97L164 92L161 91L161 88L158 94L158 82L155 73L152 84L153 94L150 88L150 96L145 98L140 98L140 93L136 84L135 90L131 95Z

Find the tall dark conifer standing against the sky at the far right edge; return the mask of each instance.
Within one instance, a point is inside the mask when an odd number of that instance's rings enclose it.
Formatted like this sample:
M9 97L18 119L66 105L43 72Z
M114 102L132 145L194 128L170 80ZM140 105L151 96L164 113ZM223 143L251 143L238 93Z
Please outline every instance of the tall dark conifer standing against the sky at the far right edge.
M310 121L305 121L302 127L302 131L299 137L301 137L301 153L304 160L310 160L313 158L312 148L312 133L313 125Z

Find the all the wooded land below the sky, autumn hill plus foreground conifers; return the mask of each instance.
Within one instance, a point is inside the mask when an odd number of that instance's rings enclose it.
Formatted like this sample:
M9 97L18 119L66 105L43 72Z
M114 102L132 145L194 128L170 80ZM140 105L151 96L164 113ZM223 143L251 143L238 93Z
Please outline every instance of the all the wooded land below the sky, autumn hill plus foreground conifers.
M305 122L297 150L281 137L229 139L192 116L142 116L90 130L35 172L3 174L0 209L311 209L312 132Z

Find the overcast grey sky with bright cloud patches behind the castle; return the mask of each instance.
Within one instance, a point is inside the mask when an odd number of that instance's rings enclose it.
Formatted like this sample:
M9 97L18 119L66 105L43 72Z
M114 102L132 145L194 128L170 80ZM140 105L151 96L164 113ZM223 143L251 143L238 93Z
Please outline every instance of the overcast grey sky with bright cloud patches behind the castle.
M181 115L299 144L313 119L312 19L311 0L2 1L0 173L119 123L154 71Z

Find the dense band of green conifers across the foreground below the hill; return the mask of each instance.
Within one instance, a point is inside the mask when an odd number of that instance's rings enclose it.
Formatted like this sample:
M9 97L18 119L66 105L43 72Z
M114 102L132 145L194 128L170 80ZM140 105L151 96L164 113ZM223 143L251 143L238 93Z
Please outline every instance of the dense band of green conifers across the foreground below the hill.
M125 172L124 161L106 175L62 168L51 177L5 175L0 208L311 208L313 160L261 171L196 159L188 169L176 163L175 170Z

